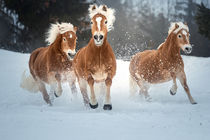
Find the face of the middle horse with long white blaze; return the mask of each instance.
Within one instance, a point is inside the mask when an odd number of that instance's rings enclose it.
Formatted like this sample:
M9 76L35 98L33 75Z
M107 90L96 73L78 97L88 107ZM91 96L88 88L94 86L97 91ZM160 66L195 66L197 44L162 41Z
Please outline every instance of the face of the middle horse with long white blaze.
M91 31L96 46L104 43L107 36L107 19L102 14L96 14L91 20Z

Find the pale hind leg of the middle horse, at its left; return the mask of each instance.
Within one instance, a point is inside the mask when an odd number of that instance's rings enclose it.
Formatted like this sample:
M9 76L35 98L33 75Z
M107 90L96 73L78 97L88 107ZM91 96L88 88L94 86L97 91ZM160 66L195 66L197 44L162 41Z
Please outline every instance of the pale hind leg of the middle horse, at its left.
M81 94L83 96L84 104L85 106L87 106L89 104L89 98L87 94L87 83L83 79L78 79L78 82L79 82L79 88L80 88Z

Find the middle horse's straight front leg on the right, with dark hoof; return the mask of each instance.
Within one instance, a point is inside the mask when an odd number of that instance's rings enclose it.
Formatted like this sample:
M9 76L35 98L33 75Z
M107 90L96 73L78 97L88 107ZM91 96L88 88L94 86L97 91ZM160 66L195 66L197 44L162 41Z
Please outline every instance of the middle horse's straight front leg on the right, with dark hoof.
M112 79L108 77L105 80L105 84L106 84L106 98L103 108L104 110L112 110L111 97L110 97L110 87L112 85Z

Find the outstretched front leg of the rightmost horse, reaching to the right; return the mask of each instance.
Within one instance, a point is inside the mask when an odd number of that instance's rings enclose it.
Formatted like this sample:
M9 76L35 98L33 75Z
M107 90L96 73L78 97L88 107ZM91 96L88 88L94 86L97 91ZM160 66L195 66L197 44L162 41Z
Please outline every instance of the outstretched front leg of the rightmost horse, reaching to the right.
M189 87L188 87L188 85L187 85L187 79L186 79L185 72L184 72L184 71L181 72L181 74L180 74L177 78L179 79L179 81L180 81L182 87L184 88L185 92L187 93L187 96L188 96L188 98L189 98L189 100L190 100L190 103L191 103L191 104L197 104L197 103L194 101L194 99L193 99L193 97L191 96L191 94L190 94L190 89L189 89Z

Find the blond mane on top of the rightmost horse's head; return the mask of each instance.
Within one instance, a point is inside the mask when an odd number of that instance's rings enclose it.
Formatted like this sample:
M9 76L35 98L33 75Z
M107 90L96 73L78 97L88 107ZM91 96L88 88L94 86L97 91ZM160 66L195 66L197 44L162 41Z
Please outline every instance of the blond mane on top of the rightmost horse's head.
M174 30L176 28L176 24L179 26L176 30ZM172 22L171 23L171 26L169 27L169 30L168 30L168 35L174 30L173 33L178 33L181 29L185 29L189 32L189 28L187 25L185 25L184 23L182 22Z

